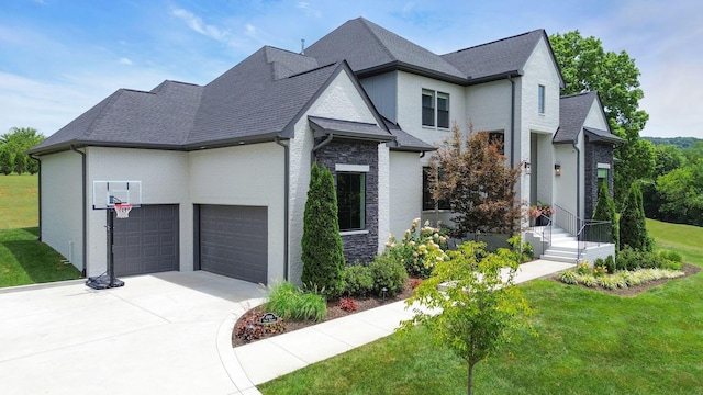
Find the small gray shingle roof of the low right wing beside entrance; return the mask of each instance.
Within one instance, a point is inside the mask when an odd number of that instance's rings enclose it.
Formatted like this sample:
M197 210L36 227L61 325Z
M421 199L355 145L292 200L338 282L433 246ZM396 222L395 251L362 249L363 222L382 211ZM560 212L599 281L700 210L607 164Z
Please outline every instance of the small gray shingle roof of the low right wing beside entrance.
M592 134L599 136L600 139L610 143L617 143L618 140L622 140L620 137L612 134L610 129L600 131L587 127L584 125L585 117L589 115L593 103L601 105L598 92L584 92L561 97L559 99L559 128L554 135L553 143L576 143L579 138L579 134L584 128L588 131L593 131L591 132Z

